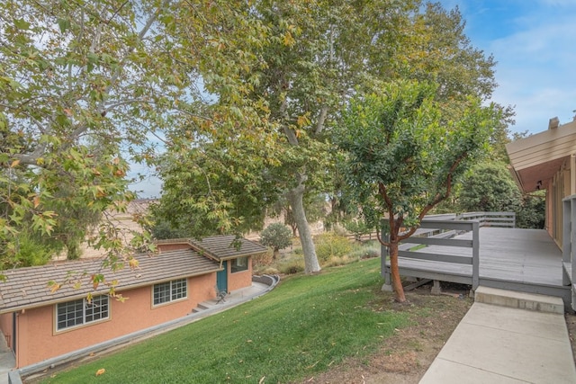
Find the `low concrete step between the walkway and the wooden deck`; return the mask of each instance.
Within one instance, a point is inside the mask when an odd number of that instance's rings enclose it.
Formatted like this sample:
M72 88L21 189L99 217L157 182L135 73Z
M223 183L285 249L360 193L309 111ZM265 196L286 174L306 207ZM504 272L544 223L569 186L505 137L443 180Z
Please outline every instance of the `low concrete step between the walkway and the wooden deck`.
M564 313L564 302L561 298L536 293L518 292L516 290L500 290L498 288L481 286L475 291L474 300L480 303L502 307L559 314Z

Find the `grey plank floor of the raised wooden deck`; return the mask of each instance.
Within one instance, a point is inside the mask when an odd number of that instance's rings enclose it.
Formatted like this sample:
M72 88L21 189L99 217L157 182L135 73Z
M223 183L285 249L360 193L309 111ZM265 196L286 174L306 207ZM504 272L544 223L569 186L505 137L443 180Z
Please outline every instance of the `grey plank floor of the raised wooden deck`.
M454 237L472 239L473 232ZM409 240L410 241L410 240ZM417 252L473 257L472 248L431 245ZM563 254L545 230L480 228L479 285L541 293L571 302L563 285ZM402 276L473 284L473 265L399 257ZM390 262L386 263L386 269Z

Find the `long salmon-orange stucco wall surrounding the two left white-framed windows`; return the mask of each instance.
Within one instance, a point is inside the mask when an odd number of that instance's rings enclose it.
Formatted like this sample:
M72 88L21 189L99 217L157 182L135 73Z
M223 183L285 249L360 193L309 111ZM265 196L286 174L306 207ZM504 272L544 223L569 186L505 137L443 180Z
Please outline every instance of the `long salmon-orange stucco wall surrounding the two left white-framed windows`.
M109 320L58 333L54 324L54 305L19 312L16 365L24 367L184 317L191 313L198 303L215 297L215 284L215 272L189 278L187 299L155 308L152 308L151 286L122 291L122 296L129 299L123 303L110 300Z

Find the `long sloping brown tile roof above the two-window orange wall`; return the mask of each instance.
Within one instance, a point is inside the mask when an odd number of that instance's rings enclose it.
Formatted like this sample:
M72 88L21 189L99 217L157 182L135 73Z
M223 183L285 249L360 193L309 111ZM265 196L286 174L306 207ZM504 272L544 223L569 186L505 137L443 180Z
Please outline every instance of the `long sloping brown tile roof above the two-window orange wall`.
M199 255L192 249L163 252L159 255L137 255L139 267L111 272L102 268L102 259L67 263L50 263L38 267L18 268L3 271L7 281L0 281L0 313L13 312L48 304L82 298L88 292L105 293L108 289L100 284L94 290L89 282L93 273L103 272L106 281L117 280L116 291L151 285L159 281L181 279L220 270L220 264ZM72 272L80 281L65 284L55 293L50 293L48 281L64 281ZM84 274L85 273L85 274ZM83 275L84 274L84 275Z

